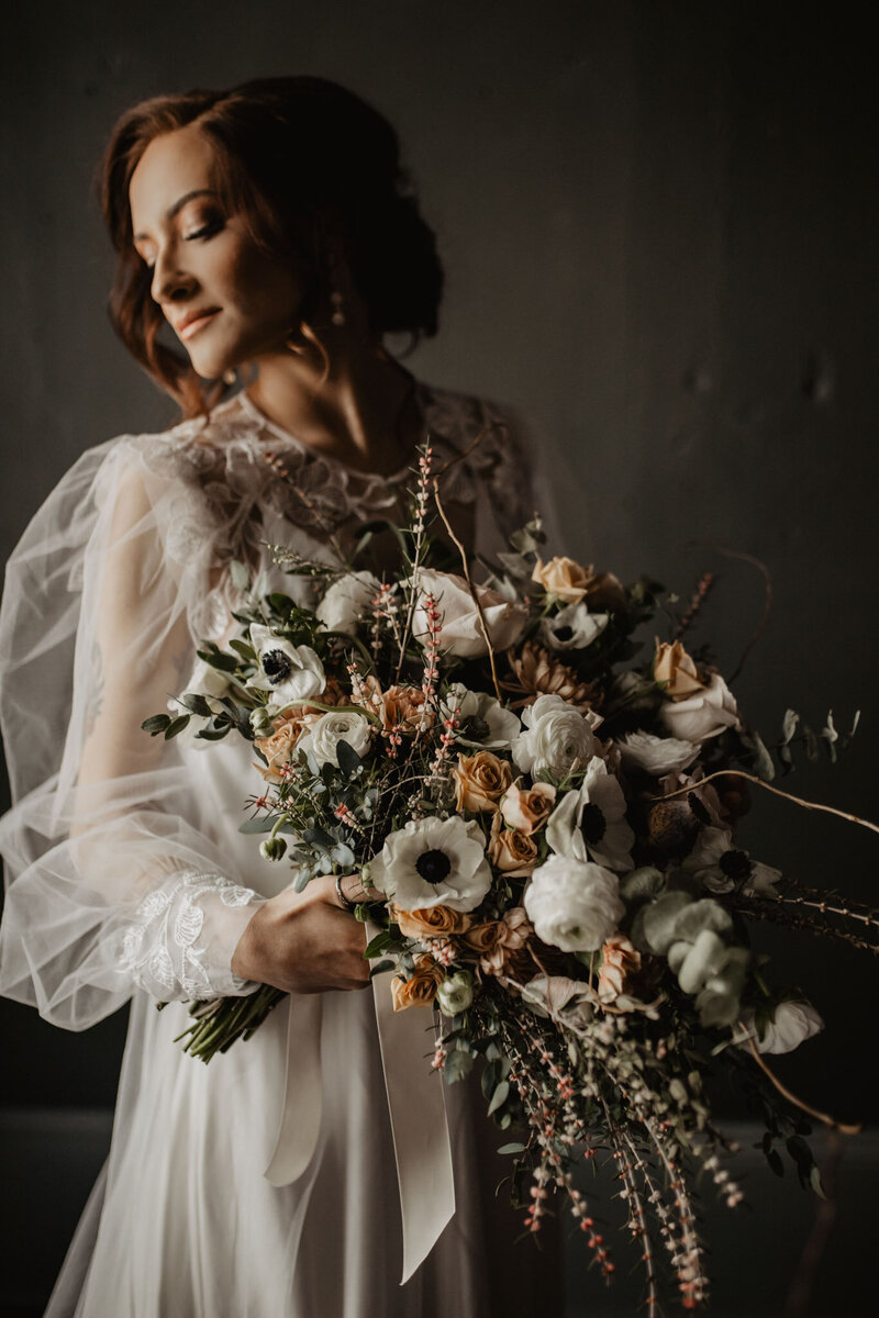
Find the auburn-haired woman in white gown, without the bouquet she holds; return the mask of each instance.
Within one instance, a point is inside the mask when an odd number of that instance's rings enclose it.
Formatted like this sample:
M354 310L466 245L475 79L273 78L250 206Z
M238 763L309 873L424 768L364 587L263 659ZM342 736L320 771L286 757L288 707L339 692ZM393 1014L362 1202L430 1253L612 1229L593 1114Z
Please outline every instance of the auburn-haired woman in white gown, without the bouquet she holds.
M264 79L134 107L107 149L103 207L115 328L183 420L84 452L8 568L0 991L71 1029L132 998L109 1159L47 1314L552 1313L552 1251L505 1256L521 1223L494 1206L497 1132L469 1086L445 1095L457 1211L399 1285L374 1004L354 991L358 876L293 894L237 832L245 743L202 755L140 731L207 681L204 641L233 634L233 561L290 590L266 544L326 559L352 546L401 509L426 434L452 464L459 532L492 551L531 510L527 452L510 418L428 389L385 349L385 335L435 332L441 268L391 128L340 87ZM208 1068L179 1050L187 1000L258 983L294 996L250 1041ZM270 1184L285 1093L295 1126L290 1094L310 1086L314 1152Z

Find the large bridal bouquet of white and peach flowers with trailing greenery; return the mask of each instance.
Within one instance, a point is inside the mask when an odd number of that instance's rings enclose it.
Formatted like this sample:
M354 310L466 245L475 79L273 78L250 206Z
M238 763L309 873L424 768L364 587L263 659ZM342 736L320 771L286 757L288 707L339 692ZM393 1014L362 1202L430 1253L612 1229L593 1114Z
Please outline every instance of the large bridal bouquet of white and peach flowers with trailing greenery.
M426 447L411 517L394 529L395 572L369 565L374 527L335 567L273 547L279 568L311 579L312 609L250 592L236 564L239 638L200 651L202 689L144 728L252 742L261 782L241 830L293 865L298 888L362 875L370 899L356 913L377 931L365 954L373 973L394 971L394 1008L439 1008L432 1065L453 1082L478 1060L488 1111L525 1132L501 1152L527 1228L560 1189L609 1276L573 1177L580 1160L609 1156L648 1311L666 1265L695 1307L708 1282L692 1176L730 1206L742 1198L710 1082L743 1089L770 1161L787 1151L820 1190L804 1136L821 1114L764 1058L822 1021L770 982L747 924L868 948L875 920L737 844L747 783L775 766L708 654L683 643L708 581L638 659L656 584L544 560L539 519L474 584L463 548L449 563L431 536L435 514L457 544ZM830 717L820 737L836 754ZM788 710L775 755L787 768L797 742L814 754L816 741ZM265 986L194 1003L184 1046L208 1061L282 996Z

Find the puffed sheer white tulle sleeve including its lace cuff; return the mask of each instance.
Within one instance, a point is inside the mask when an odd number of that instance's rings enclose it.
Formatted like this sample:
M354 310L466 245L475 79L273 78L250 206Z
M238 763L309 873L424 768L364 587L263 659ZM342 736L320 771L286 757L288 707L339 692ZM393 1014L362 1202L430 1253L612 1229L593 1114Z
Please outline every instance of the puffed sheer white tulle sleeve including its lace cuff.
M183 747L140 728L186 687L216 568L207 502L156 461L163 439L83 453L7 567L0 992L70 1029L134 987L165 1000L257 987L231 960L260 895L233 873Z

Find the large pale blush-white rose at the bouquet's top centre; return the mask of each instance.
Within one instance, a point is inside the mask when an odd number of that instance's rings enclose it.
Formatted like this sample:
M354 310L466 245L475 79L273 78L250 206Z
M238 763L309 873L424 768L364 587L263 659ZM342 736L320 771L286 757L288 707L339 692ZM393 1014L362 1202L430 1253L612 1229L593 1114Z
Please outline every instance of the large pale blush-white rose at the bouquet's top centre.
M412 617L412 635L416 641L423 646L428 641L424 596L431 594L440 613L440 648L461 659L478 659L489 652L480 616L464 577L423 568L418 576L418 605ZM518 641L528 617L527 609L525 605L510 604L499 592L489 590L488 587L477 587L476 593L493 648L506 650Z

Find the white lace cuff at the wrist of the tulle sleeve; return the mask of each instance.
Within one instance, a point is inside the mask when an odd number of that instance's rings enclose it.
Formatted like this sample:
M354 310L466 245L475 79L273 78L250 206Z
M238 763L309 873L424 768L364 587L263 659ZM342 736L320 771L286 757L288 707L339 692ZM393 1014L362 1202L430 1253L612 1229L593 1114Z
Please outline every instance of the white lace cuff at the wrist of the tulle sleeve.
M265 900L220 874L183 870L153 888L125 925L120 974L162 1002L244 998L260 987L232 971L253 903Z

